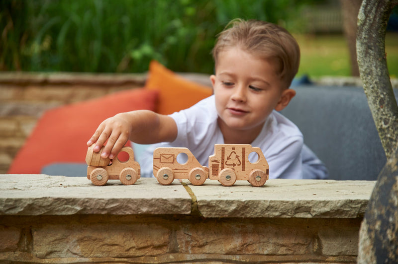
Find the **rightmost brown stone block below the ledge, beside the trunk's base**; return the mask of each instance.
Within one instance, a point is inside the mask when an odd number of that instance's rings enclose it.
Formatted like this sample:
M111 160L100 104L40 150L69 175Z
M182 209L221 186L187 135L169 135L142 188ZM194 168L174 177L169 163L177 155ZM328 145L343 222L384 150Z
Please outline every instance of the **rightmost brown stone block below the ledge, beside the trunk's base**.
M320 229L318 237L322 254L326 256L356 256L358 254L359 227Z

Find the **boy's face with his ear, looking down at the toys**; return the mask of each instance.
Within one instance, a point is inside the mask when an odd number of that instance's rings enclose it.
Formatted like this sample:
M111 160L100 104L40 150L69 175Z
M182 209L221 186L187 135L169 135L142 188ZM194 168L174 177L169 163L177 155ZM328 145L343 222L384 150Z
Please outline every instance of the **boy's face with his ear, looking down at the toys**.
M221 131L259 133L276 109L282 110L296 94L283 89L272 60L259 59L238 47L219 53L216 75L211 75Z

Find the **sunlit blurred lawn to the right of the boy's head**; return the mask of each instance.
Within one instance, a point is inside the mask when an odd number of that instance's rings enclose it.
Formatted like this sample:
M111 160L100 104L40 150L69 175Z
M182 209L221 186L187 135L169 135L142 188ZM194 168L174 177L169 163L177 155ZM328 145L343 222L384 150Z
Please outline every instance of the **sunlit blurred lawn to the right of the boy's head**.
M297 35L301 50L298 76L350 76L348 45L343 35ZM387 66L390 76L398 77L398 33L386 36Z

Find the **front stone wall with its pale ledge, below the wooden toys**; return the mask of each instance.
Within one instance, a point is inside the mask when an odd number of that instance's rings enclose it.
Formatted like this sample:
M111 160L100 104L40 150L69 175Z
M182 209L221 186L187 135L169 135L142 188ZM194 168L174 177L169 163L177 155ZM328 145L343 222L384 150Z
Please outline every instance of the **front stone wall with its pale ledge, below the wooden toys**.
M0 262L356 263L374 185L0 175Z

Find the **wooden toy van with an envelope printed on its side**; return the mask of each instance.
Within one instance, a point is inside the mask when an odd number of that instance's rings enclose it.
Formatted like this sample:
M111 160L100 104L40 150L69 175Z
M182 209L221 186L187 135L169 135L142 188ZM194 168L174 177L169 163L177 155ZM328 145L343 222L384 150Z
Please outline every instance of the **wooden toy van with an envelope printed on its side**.
M188 156L184 163L177 161ZM193 185L202 185L208 178L208 168L200 165L194 154L186 147L158 147L153 152L153 176L163 185L174 179L189 179Z

